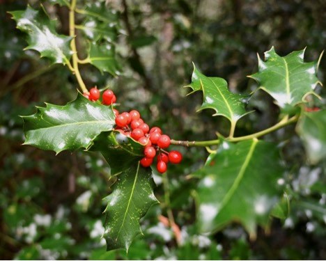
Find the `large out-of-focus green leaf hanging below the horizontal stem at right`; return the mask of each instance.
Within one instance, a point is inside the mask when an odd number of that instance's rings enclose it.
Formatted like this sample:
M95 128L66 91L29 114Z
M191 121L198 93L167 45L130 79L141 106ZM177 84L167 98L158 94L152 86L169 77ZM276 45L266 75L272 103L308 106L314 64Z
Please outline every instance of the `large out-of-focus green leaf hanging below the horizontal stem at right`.
M201 232L237 221L256 237L257 224L269 225L270 212L282 195L277 184L282 172L274 143L222 143L199 173L203 178L194 191Z

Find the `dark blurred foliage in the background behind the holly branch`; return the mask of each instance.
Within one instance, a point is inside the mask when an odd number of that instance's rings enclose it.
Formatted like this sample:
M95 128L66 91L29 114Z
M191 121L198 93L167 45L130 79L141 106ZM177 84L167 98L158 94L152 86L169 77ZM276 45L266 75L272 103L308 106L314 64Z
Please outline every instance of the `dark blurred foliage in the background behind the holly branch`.
M144 236L130 251L105 251L105 204L110 192L109 166L99 155L54 152L22 146L21 115L44 102L65 104L76 96L77 83L61 65L49 66L38 54L23 51L26 35L15 29L7 13L42 3L68 34L68 8L53 1L0 1L0 257L1 259L326 259L325 162L306 162L293 126L264 139L285 141L284 182L291 201L286 219L274 219L270 231L256 241L231 224L214 235L199 235L194 226L195 180L187 175L200 168L208 153L182 148L185 160L171 166L171 206L180 227L178 245L166 216L162 179L155 174L155 195L162 203L141 223ZM84 1L85 2L85 1ZM100 2L95 1L95 2ZM233 92L250 93L257 86L246 76L256 72L256 53L274 46L280 55L306 49L306 61L325 49L324 0L110 0L120 19L116 51L121 75L113 78L91 66L81 67L88 87L110 86L121 110L138 109L150 125L162 127L173 139L214 139L228 122L212 111L196 113L201 94L185 97L192 61L207 76L223 77ZM78 1L78 5L84 5ZM77 24L79 23L77 17ZM80 33L77 31L77 33ZM84 42L78 41L83 56ZM319 78L325 83L326 59ZM325 95L323 88L318 88ZM314 106L325 100L312 99ZM260 90L248 104L255 113L238 122L236 135L265 129L277 122L278 109ZM254 189L254 188L252 188ZM161 218L160 218L161 217ZM159 219L160 218L160 219ZM323 247L324 246L324 247Z

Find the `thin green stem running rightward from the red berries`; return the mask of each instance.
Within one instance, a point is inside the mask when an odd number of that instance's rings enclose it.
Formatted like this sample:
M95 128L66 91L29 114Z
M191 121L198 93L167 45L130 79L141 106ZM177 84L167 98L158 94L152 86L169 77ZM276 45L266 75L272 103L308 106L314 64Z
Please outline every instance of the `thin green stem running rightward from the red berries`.
M261 136L264 136L266 134L269 134L270 132L274 132L277 129L281 129L281 127L284 127L286 125L290 125L293 122L296 122L299 116L293 116L292 118L288 118L288 116L284 117L280 122L278 122L276 125L264 129L261 132L256 132L254 134L250 134L247 136L240 136L240 137L232 137L229 136L228 138L225 139L225 141L229 142L238 142L238 141L247 141L250 139L258 138ZM218 145L219 144L219 139L212 140L212 141L174 141L171 140L171 144L173 145L181 145L185 147L208 147L211 145Z

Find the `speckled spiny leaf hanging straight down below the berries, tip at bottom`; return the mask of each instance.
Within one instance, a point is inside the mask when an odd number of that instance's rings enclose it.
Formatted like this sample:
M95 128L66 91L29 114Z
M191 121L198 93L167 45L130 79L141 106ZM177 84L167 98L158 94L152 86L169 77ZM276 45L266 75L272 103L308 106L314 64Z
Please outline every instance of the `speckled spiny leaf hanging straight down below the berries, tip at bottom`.
M158 203L153 193L153 177L150 168L132 164L118 175L112 193L104 198L107 201L104 223L104 238L107 251L116 248L128 250L134 237L142 234L139 220L148 209Z

